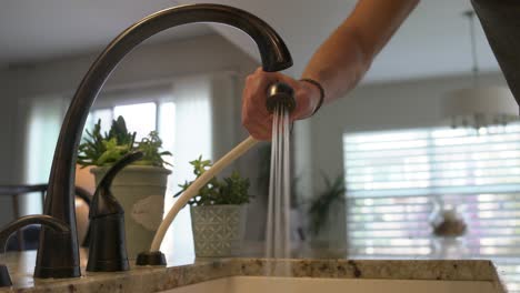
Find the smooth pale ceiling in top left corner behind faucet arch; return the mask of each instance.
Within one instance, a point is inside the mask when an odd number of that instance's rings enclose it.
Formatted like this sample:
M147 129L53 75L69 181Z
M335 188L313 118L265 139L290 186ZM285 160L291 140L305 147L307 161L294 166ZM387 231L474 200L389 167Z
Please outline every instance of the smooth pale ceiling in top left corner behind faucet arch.
M99 52L136 21L171 0L16 0L0 9L0 67ZM182 26L153 40L214 33L207 24Z

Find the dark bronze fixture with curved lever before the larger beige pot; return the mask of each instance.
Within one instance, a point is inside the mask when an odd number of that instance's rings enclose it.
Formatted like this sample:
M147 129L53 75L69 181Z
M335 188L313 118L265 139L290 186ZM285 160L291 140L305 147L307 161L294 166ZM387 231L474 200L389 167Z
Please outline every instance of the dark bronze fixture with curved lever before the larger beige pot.
M112 195L113 179L128 164L141 159L142 152L129 153L113 164L96 189L89 212L89 272L128 271L128 255L124 234L124 211Z

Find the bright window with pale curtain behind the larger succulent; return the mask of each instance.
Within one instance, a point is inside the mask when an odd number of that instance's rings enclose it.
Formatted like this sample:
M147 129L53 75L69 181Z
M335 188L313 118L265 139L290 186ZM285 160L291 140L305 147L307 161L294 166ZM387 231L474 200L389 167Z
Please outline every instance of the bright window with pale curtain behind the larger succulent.
M180 190L178 185L193 180L189 161L201 154L212 159L211 100L214 88L211 82L210 75L194 75L176 79L173 84L166 87L102 93L86 123L86 129L91 129L96 118L112 121L122 114L128 129L138 131L137 140L150 130L158 130L163 150L173 154L164 158L173 165L164 196L166 212L177 200L173 194ZM110 123L102 124L102 131L109 129ZM189 209L182 209L162 241L163 247L173 247L177 260L194 257L190 223Z

